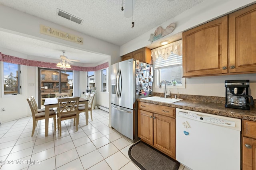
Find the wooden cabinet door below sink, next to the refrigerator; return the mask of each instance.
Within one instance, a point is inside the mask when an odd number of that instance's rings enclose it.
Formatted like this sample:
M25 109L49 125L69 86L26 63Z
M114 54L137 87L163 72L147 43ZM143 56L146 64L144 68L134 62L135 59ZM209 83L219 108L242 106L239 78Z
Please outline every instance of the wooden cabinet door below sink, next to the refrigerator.
M153 145L153 113L138 109L138 137Z

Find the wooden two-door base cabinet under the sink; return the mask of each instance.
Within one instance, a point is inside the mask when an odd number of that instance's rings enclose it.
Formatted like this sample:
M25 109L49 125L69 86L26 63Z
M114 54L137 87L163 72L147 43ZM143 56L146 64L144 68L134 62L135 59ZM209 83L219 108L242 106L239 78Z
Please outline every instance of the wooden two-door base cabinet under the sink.
M154 107L154 105L150 105ZM151 111L154 110L153 107L151 107ZM159 106L156 105L156 107ZM175 110L173 107L170 108ZM147 109L147 107L143 109ZM176 159L176 120L172 114L166 116L138 109L138 137Z

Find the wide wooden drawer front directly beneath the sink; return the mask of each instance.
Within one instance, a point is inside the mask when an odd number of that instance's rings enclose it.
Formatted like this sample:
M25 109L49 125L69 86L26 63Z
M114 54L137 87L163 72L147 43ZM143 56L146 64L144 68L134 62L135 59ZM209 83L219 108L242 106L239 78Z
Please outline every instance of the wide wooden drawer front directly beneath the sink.
M175 108L168 106L160 106L156 104L138 102L138 109L146 110L154 113L159 113L161 115L175 117Z

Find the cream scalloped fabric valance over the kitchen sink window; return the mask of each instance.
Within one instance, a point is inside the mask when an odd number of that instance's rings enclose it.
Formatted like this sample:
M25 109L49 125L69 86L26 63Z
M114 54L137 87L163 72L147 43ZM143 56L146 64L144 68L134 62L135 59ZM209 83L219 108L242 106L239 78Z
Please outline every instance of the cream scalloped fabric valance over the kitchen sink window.
M182 39L173 43L158 47L151 50L151 57L153 61L156 61L158 57L162 57L164 60L168 59L171 53L182 56Z

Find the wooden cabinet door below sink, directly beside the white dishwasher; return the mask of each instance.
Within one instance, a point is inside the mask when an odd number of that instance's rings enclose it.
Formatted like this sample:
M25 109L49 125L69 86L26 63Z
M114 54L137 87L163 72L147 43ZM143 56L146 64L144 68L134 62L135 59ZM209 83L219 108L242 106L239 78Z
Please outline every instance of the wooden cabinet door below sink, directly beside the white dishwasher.
M154 146L176 157L175 119L154 114Z

